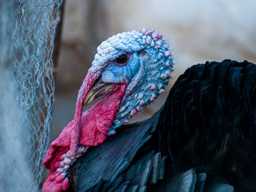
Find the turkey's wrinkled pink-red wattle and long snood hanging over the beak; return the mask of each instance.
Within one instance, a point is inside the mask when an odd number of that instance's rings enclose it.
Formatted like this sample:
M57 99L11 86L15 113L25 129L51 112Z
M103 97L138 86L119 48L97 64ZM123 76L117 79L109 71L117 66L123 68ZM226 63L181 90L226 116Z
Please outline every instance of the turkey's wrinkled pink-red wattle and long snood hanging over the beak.
M46 169L50 169L50 172L48 179L42 186L42 192L61 192L69 188L70 183L67 175L59 169L64 168L64 158L75 158L80 145L96 146L104 142L116 117L127 85L113 85L112 93L83 112L83 101L96 79L96 77L91 78L93 80L87 84L89 82L88 76L80 88L74 120L67 124L59 137L50 144L45 155L43 164ZM89 85L87 88L86 84Z

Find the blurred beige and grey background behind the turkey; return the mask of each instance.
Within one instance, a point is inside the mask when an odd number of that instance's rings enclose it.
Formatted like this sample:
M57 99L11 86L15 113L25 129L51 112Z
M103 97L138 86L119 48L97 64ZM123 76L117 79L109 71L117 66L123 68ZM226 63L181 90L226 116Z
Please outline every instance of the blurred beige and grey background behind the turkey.
M256 1L72 0L64 1L56 102L51 141L75 112L78 89L97 46L113 34L146 27L163 34L174 58L165 93L132 121L150 117L189 66L230 58L256 63Z

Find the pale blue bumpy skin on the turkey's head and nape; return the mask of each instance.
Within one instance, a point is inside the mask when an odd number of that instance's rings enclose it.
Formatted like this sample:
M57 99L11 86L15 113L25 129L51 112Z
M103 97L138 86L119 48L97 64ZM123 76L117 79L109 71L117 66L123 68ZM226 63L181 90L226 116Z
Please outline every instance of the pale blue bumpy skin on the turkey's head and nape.
M118 65L116 58L121 55L127 55L128 60ZM172 66L167 44L153 31L116 34L99 45L91 70L100 72L105 83L129 82L110 132L164 91Z

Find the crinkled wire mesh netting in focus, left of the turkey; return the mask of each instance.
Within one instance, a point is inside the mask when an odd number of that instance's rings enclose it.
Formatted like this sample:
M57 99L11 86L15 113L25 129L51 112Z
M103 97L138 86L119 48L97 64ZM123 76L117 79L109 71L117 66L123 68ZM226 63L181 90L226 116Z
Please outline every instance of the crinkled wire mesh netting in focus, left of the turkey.
M20 124L29 131L29 137L23 138L23 149L38 188L44 176L42 161L49 142L54 100L53 42L62 0L20 0L19 3L16 24L8 37L12 36L16 94L23 114Z

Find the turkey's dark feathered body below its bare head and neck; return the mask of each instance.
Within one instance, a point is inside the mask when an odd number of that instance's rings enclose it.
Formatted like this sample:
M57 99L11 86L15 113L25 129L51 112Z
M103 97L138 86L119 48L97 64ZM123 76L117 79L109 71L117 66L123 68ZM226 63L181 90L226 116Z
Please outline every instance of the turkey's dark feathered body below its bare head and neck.
M150 119L121 126L69 171L69 191L256 191L256 65L187 69Z

